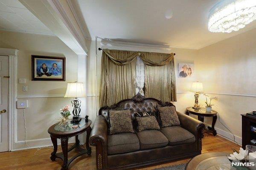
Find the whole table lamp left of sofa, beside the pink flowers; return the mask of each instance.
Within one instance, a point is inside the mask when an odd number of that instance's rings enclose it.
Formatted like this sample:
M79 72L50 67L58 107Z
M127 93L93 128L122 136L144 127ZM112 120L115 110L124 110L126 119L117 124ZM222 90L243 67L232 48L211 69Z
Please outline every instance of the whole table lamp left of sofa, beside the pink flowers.
M67 83L67 91L64 98L75 98L71 101L73 108L73 119L70 121L72 124L79 124L81 121L80 117L80 106L81 101L78 98L85 97L84 84L83 83Z

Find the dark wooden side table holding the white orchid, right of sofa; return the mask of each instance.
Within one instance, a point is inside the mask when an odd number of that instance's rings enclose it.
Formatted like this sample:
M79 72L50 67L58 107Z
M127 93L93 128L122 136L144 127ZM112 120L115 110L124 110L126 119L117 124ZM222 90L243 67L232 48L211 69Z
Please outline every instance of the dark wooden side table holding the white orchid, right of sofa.
M211 112L207 112L204 108L200 109L200 110L195 110L193 109L193 107L187 107L186 108L186 115L197 115L198 116L198 120L201 122L204 122L204 117L212 117L212 127L207 127L208 129L204 130L204 133L212 133L213 135L217 135L216 130L214 129L214 125L217 121L217 114L218 112L216 112L215 110L212 110ZM204 134L202 135L202 137L204 137Z

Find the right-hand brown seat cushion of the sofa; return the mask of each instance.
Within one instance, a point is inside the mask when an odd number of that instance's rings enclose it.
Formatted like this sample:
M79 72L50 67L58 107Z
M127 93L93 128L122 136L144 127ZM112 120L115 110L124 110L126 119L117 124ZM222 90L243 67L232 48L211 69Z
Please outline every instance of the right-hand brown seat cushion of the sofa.
M161 132L168 138L169 145L195 142L195 136L180 126L164 127Z

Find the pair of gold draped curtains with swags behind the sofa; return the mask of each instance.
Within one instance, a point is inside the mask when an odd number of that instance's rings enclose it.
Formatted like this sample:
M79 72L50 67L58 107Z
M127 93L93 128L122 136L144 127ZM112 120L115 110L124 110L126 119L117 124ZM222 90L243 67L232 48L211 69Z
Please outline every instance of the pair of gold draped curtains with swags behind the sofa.
M131 98L136 89L136 59L145 64L145 96L176 101L174 54L103 49L99 104Z

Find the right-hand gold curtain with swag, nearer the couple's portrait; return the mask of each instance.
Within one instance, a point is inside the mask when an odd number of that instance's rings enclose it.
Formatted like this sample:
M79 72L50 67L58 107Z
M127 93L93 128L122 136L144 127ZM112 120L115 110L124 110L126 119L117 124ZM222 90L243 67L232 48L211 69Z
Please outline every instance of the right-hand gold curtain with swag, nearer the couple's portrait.
M143 52L144 58L154 63L161 63L170 54ZM177 101L174 60L163 66L145 65L145 96L157 98L163 102Z

